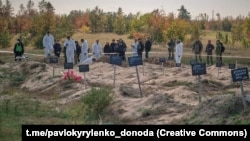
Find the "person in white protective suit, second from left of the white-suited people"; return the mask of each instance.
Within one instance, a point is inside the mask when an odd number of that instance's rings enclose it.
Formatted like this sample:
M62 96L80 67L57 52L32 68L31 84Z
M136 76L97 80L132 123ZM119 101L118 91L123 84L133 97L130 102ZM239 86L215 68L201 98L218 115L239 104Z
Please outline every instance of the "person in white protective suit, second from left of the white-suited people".
M67 37L67 39L64 42L64 46L66 47L66 57L67 57L67 63L75 63L74 55L76 53L76 44L73 39L70 38L70 36Z

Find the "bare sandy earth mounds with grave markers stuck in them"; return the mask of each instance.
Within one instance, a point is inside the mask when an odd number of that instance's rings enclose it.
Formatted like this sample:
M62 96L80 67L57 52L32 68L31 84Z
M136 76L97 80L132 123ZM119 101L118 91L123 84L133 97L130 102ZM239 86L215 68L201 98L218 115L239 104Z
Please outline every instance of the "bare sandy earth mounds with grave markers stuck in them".
M210 119L205 124L213 124L216 113L217 115L221 113L218 111L218 105L226 99L235 99L237 107L234 109L242 110L240 88L237 83L232 82L228 66L221 68L215 65L207 66L207 74L201 75L201 103L199 103L198 77L192 76L191 66L174 65L174 62L167 61L163 67L156 58L153 58L145 61L143 66L138 66L142 97L136 67L129 67L127 63L116 66L114 86L114 66L109 64L108 58L90 64L90 71L85 73L86 88L84 81L74 83L70 88L65 86L62 77L68 70L63 68L62 62L53 65L30 60L13 66L13 69L32 68L21 87L37 92L43 100L46 99L46 95L57 92L59 96L56 101L61 104L81 98L91 87L111 87L114 90L114 100L109 108L115 116L128 124L182 124L183 122L178 121L190 116L190 113L197 108L202 108L201 115ZM74 66L74 71L84 78L84 73L79 72L77 65ZM244 82L245 88L246 85L249 85L248 81ZM53 102L55 99L44 101Z

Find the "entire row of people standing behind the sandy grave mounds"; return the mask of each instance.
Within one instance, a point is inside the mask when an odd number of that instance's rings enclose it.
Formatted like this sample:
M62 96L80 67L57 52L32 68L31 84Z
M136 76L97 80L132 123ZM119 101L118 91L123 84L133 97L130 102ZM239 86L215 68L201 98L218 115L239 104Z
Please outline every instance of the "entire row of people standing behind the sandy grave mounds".
M80 43L76 40L73 40L70 36L67 36L66 40L63 43L63 48L59 40L54 40L54 36L48 31L43 37L43 47L45 58L50 57L51 53L54 53L55 56L60 57L60 53L63 51L65 57L65 63L81 64L84 60L88 58L89 54L89 45L87 40L81 39ZM146 38L145 43L141 38L134 39L134 42L131 44L132 55L131 56L140 56L142 57L143 52L145 51L145 58L149 58L149 52L151 51L152 41L150 38ZM168 58L169 60L175 60L177 64L181 64L181 59L183 56L183 43L181 40L170 39L167 43L168 47ZM213 50L215 49L216 61L217 63L222 64L222 53L223 53L223 44L220 40L216 41L216 46L212 43L211 40L208 40L205 53L207 55L207 64L213 65ZM202 42L197 39L192 45L192 52L195 55L195 60L197 62L202 62L201 53L203 50ZM17 56L22 56L24 53L24 46L20 39L17 39L17 42L14 46L15 61L17 61ZM113 39L111 43L106 42L103 51L102 45L97 39L92 45L92 55L93 59L100 59L102 52L105 55L118 55L121 56L123 61L126 61L126 51L127 45L123 39L115 40ZM20 61L20 59L18 59Z

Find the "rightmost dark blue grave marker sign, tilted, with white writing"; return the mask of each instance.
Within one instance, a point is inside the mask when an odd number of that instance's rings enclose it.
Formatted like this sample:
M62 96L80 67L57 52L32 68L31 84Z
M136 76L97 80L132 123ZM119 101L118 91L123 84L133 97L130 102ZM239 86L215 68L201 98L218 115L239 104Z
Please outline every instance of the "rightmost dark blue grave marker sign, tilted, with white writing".
M231 75L233 78L233 82L249 79L248 68L232 69Z

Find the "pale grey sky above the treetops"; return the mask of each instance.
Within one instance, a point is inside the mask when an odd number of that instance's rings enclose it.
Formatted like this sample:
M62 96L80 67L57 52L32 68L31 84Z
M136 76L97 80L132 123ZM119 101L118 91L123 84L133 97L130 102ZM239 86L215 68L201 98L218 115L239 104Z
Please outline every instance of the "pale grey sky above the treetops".
M19 10L21 3L27 4L28 0L9 0L15 9ZM38 2L32 0L38 9ZM121 7L124 14L140 12L142 14L152 12L155 9L162 9L166 13L173 12L178 15L181 5L187 9L191 18L194 19L200 13L209 15L209 19L216 13L221 17L237 17L239 15L248 16L250 13L250 0L46 0L51 2L56 14L69 14L71 10L94 9L98 6L104 12L117 12ZM5 0L2 0L3 4Z

